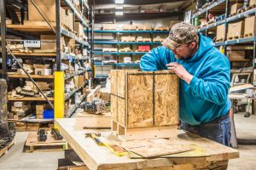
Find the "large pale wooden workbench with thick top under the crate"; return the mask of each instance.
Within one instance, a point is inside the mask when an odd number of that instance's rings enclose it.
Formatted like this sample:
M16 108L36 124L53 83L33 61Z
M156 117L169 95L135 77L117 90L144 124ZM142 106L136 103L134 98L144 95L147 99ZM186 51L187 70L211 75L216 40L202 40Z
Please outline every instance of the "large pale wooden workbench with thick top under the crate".
M75 130L74 118L56 119L55 124L61 135L73 148L77 155L90 169L225 169L230 159L238 158L239 152L235 149L204 139L194 134L180 130L178 140L185 144L196 144L201 147L201 154L194 152L175 154L168 158L131 159L129 156L115 156L110 150L98 146L85 133L100 132L108 137L110 130Z

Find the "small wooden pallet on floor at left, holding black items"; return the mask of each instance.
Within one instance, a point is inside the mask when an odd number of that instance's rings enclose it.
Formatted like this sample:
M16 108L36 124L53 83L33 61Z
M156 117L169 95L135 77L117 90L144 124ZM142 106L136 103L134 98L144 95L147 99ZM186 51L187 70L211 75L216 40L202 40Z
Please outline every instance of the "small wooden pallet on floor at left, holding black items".
M38 141L37 132L28 133L26 138L26 143L24 145L25 152L33 151L61 151L65 150L67 147L67 142L62 140L55 140L50 131L47 131L47 140L44 142Z

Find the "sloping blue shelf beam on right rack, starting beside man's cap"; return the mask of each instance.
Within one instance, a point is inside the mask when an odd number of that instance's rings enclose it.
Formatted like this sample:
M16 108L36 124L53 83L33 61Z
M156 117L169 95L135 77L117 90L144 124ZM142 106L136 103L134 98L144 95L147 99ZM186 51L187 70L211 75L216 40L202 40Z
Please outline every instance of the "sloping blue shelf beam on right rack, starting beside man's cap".
M240 20L242 18L246 18L249 14L255 14L256 13L256 8L252 8L250 10L247 10L241 14L236 14L234 16L231 16L229 18L226 18L224 20L219 20L217 22L214 22L212 24L209 24L207 26L204 26L204 27L201 27L200 29L198 29L198 31L205 31L209 28L212 28L214 26L219 26L219 25L222 25L224 23L229 23L229 22L233 22L233 21L236 21L236 20Z

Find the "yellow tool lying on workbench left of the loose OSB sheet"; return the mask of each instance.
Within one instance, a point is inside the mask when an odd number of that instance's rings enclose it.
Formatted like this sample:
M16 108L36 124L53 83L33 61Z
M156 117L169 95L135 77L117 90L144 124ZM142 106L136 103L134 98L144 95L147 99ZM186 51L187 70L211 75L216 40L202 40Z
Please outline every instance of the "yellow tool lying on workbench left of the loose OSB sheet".
M116 156L125 156L128 154L128 152L119 145L111 144L108 141L102 141L103 139L101 133L85 133L85 138L94 139L96 141L96 144L98 144L99 146L105 146Z

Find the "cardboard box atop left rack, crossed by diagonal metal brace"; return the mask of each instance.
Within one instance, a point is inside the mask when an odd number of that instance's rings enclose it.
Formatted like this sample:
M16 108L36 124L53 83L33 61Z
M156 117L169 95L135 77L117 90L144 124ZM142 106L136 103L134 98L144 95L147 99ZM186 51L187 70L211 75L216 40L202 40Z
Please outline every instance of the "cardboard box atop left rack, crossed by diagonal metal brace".
M33 1L38 5L38 8L44 14L45 18L49 22L56 21L55 1L49 1L49 0L33 0ZM28 3L28 20L44 21L44 18L38 12L38 9L34 7L31 1L27 1L27 3Z

